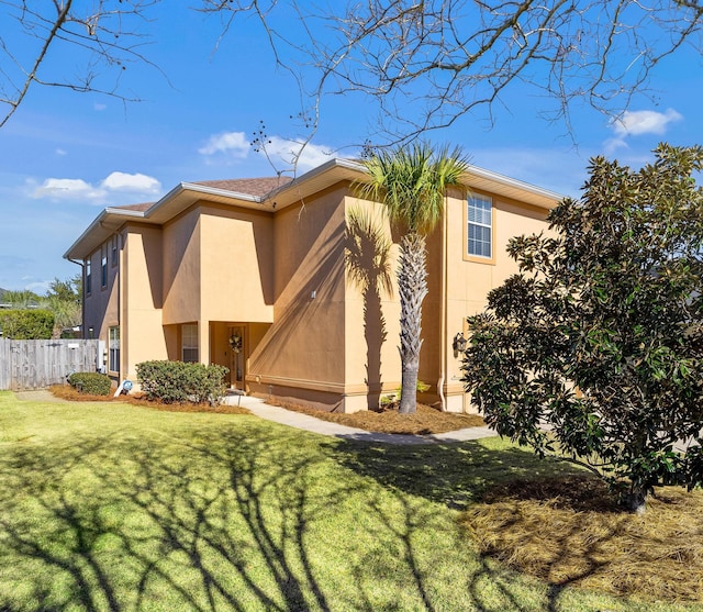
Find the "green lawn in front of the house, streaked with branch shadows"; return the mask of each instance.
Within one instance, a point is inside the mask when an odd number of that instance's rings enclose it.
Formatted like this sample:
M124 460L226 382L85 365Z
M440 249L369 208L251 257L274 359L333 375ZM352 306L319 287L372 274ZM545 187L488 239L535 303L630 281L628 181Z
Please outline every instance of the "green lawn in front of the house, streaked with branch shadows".
M0 611L684 610L476 554L461 509L487 483L555 469L495 438L353 444L0 392Z

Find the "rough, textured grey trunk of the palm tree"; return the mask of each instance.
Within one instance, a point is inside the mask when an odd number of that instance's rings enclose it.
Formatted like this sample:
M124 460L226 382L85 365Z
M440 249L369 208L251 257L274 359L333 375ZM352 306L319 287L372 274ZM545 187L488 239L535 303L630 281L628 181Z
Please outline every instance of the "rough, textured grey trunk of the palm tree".
M398 291L400 293L400 359L403 369L400 412L417 410L417 370L422 347L422 301L427 294L425 238L409 233L400 243Z

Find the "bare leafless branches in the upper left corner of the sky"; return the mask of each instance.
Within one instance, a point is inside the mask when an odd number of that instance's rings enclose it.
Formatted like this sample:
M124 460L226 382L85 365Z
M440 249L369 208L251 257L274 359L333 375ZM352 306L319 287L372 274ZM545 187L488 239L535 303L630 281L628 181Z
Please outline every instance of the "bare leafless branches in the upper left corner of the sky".
M158 1L0 0L0 127L36 86L136 100L122 76L150 64L141 49Z

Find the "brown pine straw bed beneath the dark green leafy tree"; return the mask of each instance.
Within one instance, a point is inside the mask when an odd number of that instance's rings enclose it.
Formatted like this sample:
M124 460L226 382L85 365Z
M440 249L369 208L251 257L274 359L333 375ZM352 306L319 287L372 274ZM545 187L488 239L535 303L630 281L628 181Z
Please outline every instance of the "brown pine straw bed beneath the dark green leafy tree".
M703 601L703 491L666 487L622 511L588 476L489 490L465 523L482 554L551 585L667 602Z

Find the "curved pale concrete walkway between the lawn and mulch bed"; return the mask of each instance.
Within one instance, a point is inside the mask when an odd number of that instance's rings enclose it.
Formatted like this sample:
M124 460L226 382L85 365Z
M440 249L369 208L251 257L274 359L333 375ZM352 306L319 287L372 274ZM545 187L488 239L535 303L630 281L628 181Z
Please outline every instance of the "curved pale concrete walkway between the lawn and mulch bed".
M447 442L467 442L471 439L480 439L482 437L492 437L498 435L494 431L488 427L468 427L465 430L457 430L456 432L447 432L444 434L434 435L405 435L405 434L382 434L377 432L367 432L366 430L359 430L357 427L349 427L347 425L341 425L339 423L332 423L330 421L323 421L322 419L315 419L309 414L302 412L295 412L292 410L286 410L284 408L278 408L267 404L264 400L250 397L227 397L225 403L236 404L241 400L241 405L246 408L252 414L266 419L267 421L274 421L289 427L295 427L298 430L305 430L321 435L328 435L339 437L344 439L354 439L357 442L372 442L383 444L438 444Z

